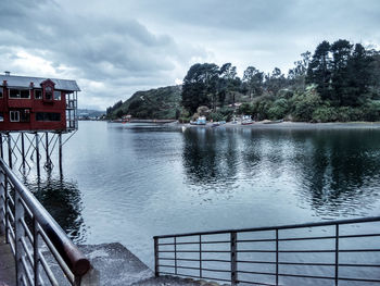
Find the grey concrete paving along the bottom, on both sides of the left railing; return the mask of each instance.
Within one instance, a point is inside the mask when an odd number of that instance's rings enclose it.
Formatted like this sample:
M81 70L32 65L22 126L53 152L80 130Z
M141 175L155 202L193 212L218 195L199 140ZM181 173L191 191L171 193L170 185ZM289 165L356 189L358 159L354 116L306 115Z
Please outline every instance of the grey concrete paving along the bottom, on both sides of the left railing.
M216 283L193 281L173 276L154 277L154 273L134 253L123 245L102 244L85 245L79 249L91 261L96 274L94 283L85 282L85 285L106 286L217 286ZM60 285L68 285L62 272L49 252L43 252L51 270ZM16 286L15 262L10 245L5 244L4 236L0 236L0 286ZM42 279L47 279L42 274Z

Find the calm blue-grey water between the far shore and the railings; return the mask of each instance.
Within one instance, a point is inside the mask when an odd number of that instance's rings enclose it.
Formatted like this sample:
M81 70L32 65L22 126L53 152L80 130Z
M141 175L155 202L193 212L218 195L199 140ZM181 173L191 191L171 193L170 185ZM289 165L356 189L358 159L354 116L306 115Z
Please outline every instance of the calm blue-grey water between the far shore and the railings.
M380 130L130 126L80 122L63 179L26 177L77 243L152 266L153 235L379 215Z

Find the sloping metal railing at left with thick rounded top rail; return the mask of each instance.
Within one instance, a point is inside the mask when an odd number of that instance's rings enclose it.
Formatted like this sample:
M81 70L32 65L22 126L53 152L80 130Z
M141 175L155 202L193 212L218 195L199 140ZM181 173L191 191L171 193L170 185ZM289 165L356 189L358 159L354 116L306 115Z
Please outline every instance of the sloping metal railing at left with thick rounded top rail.
M0 233L5 234L15 257L17 285L81 285L91 268L89 260L2 159Z

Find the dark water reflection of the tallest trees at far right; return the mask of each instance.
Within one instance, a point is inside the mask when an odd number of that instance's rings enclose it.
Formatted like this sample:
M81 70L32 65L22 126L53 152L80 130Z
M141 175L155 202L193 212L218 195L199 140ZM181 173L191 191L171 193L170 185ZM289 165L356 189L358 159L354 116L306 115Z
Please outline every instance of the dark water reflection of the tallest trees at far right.
M312 137L312 152L300 160L306 186L302 195L312 208L337 216L370 209L379 196L379 142L380 133L371 130Z

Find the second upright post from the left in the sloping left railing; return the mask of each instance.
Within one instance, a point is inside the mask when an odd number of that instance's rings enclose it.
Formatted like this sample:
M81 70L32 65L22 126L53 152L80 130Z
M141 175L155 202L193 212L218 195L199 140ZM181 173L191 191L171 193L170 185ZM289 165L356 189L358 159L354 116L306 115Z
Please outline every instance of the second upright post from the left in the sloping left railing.
M25 270L23 271L22 259L25 256L23 245L21 243L22 237L25 237L25 231L21 220L24 219L24 207L21 203L21 196L17 189L14 190L14 228L15 228L15 252L16 252L16 285L21 285L22 277L24 276Z

